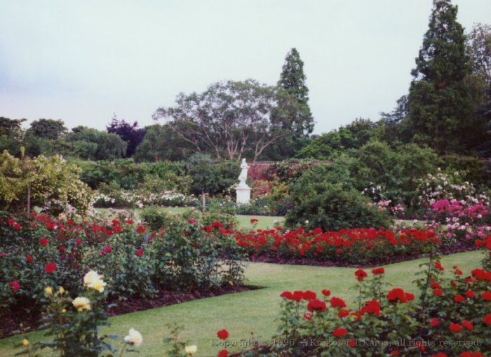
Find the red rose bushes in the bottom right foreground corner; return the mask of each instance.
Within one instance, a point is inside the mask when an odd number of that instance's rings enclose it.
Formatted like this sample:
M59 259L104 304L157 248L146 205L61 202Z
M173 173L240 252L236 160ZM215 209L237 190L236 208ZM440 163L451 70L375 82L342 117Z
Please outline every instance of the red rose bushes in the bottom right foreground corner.
M419 302L402 288L386 289L382 267L355 272L363 302L352 310L327 289L284 291L275 340L289 343L260 346L250 356L487 356L490 262L487 252L483 269L464 275L452 267L446 276L431 255L418 281ZM249 356L241 353L232 356Z

